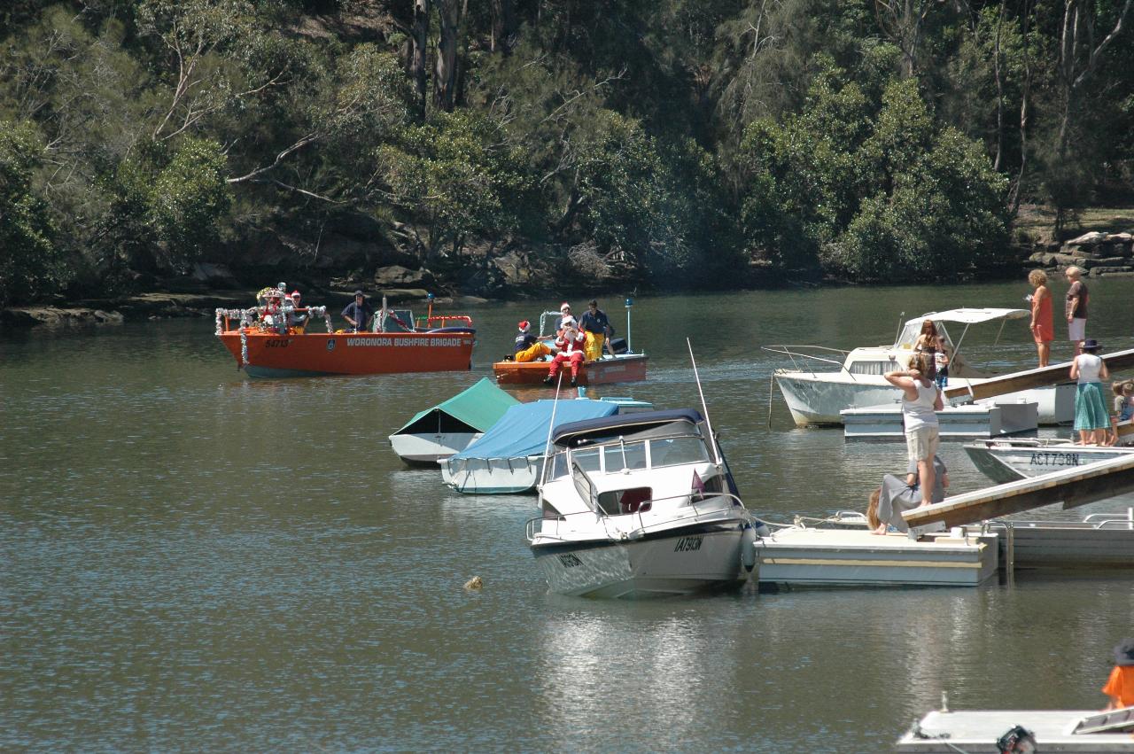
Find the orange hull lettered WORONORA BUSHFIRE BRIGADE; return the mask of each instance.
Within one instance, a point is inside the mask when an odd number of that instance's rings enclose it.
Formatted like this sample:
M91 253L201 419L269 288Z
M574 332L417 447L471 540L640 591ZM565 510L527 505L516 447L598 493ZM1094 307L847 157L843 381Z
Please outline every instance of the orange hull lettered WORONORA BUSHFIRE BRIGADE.
M219 337L255 378L463 372L472 368L475 342L472 332L248 332L244 363L239 331Z

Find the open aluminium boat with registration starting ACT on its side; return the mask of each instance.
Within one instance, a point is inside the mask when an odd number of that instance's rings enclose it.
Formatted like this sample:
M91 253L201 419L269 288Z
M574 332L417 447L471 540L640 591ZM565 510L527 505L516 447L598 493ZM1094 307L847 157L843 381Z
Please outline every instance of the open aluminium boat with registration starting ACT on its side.
M973 465L997 483L1042 476L1061 468L1134 454L1134 448L1078 446L1056 438L980 440L965 443L964 448Z

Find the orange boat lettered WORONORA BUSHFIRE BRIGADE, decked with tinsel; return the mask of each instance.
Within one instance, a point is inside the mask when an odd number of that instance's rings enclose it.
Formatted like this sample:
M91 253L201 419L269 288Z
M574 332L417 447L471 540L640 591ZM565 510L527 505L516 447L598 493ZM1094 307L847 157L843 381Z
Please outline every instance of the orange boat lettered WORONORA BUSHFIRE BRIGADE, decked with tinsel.
M432 305L431 305L432 307ZM327 332L287 327L289 312L322 316ZM265 316L263 307L217 310L217 337L248 376L458 372L472 368L476 330L465 315L414 320L408 310L384 306L370 332L331 331L325 307Z

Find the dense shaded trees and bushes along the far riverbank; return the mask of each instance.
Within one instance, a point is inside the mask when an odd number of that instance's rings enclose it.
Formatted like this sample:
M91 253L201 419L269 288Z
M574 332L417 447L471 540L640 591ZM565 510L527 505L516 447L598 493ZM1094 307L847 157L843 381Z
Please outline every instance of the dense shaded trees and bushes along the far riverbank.
M1002 269L1021 203L1132 198L1131 5L14 0L0 305Z

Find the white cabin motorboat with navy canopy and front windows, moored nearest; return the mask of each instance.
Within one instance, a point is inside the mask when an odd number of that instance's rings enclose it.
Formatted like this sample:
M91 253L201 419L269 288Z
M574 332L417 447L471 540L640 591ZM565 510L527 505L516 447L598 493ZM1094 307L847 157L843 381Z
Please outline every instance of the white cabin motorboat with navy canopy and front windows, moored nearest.
M526 528L551 591L640 598L743 583L762 524L711 438L693 409L560 426L542 516Z

